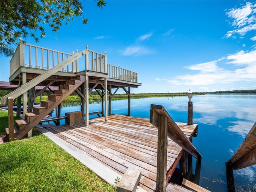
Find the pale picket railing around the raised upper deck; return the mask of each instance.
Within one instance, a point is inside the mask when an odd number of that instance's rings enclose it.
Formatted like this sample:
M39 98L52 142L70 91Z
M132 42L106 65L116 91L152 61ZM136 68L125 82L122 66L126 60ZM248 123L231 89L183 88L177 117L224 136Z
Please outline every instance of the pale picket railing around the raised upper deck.
M76 50L76 53L78 53L78 50ZM22 44L22 39L20 38L20 44L10 60L10 76L12 76L19 67L50 70L73 54L74 52L68 54L31 44ZM108 78L138 82L138 74L136 72L120 68L120 66L116 67L107 64L106 52L102 54L88 50L88 46L86 46L85 55L85 68L81 68L81 71L90 70L94 72L108 73ZM69 73L79 72L78 60L68 64L60 71Z

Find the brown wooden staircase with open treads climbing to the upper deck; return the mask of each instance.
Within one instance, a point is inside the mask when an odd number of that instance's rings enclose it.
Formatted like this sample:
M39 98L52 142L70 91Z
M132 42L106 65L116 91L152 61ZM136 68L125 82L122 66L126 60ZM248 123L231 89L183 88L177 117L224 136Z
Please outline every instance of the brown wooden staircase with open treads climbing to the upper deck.
M53 95L48 95L47 101L41 101L41 105L33 107L32 113L25 113L24 120L16 120L14 127L14 138L21 139L36 124L38 124L46 115L56 108L67 96L76 90L84 81L85 76L74 76L71 80L67 80L66 84L61 85L59 90L54 91ZM9 140L9 130L6 128L6 138Z

